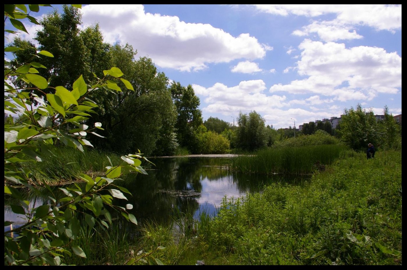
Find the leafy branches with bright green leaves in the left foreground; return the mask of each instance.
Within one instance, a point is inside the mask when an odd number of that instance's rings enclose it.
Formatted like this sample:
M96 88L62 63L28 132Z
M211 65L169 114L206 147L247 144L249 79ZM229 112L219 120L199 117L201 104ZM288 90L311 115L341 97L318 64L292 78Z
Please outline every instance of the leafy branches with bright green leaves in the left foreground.
M28 18L37 23L29 14L38 12L39 6L29 4L28 10L24 4L5 4L4 20L9 20L15 28L26 32L20 20ZM5 32L16 31L7 29ZM64 44L59 45L63 47ZM5 52L18 50L20 48L14 46L5 48ZM43 56L54 57L45 50L35 54L40 60ZM92 146L85 139L86 136L97 135L95 131L103 128L100 122L95 122L91 127L83 124L84 120L89 119L92 108L97 107L88 98L89 93L106 87L120 91L116 82L123 73L118 68L103 70L103 78L98 79L94 85L87 85L80 75L73 83L69 83L72 90L68 90L62 85L50 86L46 78L37 74L36 68L42 68L42 64L36 61L20 66L12 66L5 61L5 67L4 110L23 116L20 122L4 124L4 196L11 196L18 201L11 205L11 209L14 213L26 216L27 221L18 228L4 231L4 265L61 265L64 256L86 257L81 247L74 244L74 240L83 234L85 226L91 230L95 226L109 228L112 224L109 213L111 210L120 212L128 221L137 224L136 218L127 212L130 205L125 209L113 203L113 198L127 200L123 192L129 193L124 187L117 186L114 179L128 172L145 174L140 166L142 156L122 156L123 161L118 165L108 166L103 176L92 178L79 174L86 184L83 187L75 185L72 188L59 188L65 194L62 197L57 196L47 183L35 183L36 186L45 186L52 196L49 196L48 202L33 209L15 186L25 186L39 192L32 185L30 168L37 162L52 160L51 150L55 148L56 141L82 152L85 146ZM15 87L9 84L12 77L18 77L26 85L33 87ZM123 78L120 81L129 85ZM27 90L41 92L44 100L39 99L35 93L29 95ZM39 105L33 106L32 100L36 100ZM93 105L88 106L88 102ZM74 116L67 118L68 115ZM64 131L62 127L68 123L76 128ZM26 163L31 164L27 166ZM85 220L86 225L81 225L80 220ZM4 221L4 226L11 224L13 222ZM11 237L10 233L16 233L18 237ZM133 258L129 263L135 260Z

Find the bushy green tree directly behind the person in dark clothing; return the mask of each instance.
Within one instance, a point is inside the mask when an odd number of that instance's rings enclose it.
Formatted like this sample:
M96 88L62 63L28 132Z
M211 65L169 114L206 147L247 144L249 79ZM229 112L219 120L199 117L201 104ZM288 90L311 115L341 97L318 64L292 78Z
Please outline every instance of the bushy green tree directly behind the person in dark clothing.
M360 104L356 109L344 110L341 117L340 137L354 150L365 150L369 143L375 145L379 142L378 124L372 109L368 112Z

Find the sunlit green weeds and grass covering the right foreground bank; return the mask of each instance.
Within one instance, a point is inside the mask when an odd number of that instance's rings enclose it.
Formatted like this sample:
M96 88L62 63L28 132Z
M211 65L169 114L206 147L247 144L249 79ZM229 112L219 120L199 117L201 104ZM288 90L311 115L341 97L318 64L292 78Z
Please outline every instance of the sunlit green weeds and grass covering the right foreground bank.
M203 213L194 224L191 246L180 247L188 256L165 261L402 265L401 190L400 151L377 152L370 160L347 151L303 185L276 183L261 193L225 198L215 218ZM167 242L171 252L163 258L176 254L173 245Z

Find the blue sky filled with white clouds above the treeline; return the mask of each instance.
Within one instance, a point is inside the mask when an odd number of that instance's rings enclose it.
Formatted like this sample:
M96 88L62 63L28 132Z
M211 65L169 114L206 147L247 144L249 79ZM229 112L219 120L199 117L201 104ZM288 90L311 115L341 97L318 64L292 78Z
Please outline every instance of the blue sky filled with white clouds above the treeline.
M239 112L256 111L274 128L298 128L358 104L401 114L401 5L90 4L81 11L82 28L98 23L105 42L131 44L136 59L150 57L170 82L192 85L204 121L236 125Z

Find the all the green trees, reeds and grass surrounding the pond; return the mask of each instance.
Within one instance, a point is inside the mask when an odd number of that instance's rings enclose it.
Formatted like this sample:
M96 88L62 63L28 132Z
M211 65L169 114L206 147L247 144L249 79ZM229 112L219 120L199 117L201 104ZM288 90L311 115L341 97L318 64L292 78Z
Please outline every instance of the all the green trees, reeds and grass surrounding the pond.
M337 137L312 123L286 139L291 128L265 126L256 111L239 113L236 127L217 118L203 123L191 85L168 85L151 59L136 60L128 44L103 42L97 24L80 30L81 5L37 22L29 14L43 6L50 5L4 5L5 22L17 30L27 32L25 18L43 26L38 48L20 38L5 47L15 59L5 61L4 108L19 118L4 123L4 196L27 222L5 230L4 265L402 264L401 128L387 107L379 122L359 104L345 109ZM378 151L366 160L369 142ZM137 224L131 204L113 203L127 200L126 185L135 183L114 180L147 174L143 155L227 152L245 152L232 170L313 176L225 197L215 218L175 213L171 224L151 222L133 239L112 218L110 211ZM200 183L198 172L183 173ZM78 179L85 183L59 188L62 196L50 188ZM51 195L30 208L17 187L39 186Z

